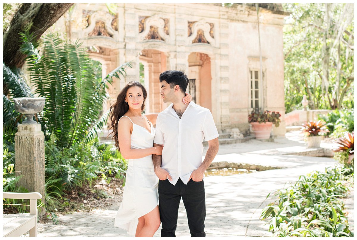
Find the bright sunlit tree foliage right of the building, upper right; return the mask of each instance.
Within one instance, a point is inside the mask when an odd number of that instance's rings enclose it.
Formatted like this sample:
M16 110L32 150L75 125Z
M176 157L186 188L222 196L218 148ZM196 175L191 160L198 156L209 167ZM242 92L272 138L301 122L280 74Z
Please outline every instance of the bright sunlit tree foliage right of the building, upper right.
M310 109L353 107L353 6L282 6L291 12L283 27L286 112L302 109L304 94Z

